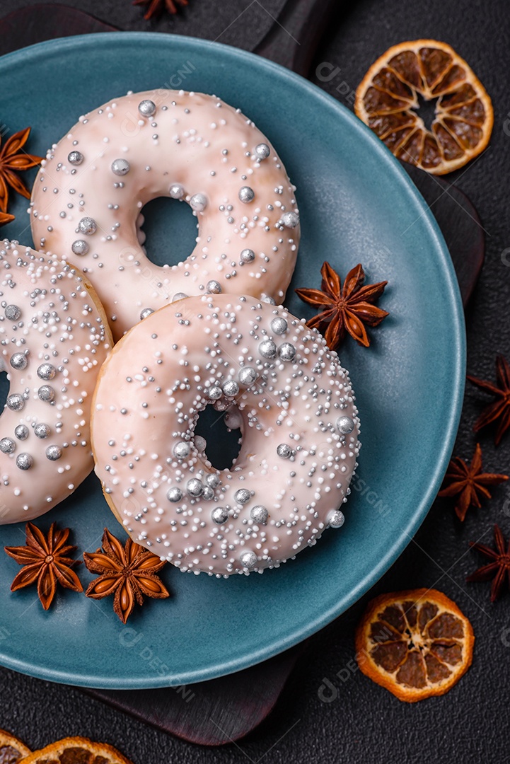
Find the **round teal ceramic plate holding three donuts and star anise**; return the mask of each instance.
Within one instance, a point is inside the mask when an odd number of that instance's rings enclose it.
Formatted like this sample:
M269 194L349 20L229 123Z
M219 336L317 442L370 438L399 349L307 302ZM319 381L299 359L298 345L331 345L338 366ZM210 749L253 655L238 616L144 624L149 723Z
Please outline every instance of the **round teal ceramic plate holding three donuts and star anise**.
M149 688L214 678L270 658L319 630L389 568L420 525L453 448L463 397L463 313L450 257L423 199L386 147L357 118L299 76L249 53L163 34L113 33L53 40L0 59L0 121L33 125L44 154L79 115L128 89L212 92L256 121L296 184L302 245L287 306L311 311L296 286L319 286L325 259L342 274L362 262L387 279L390 317L369 349L347 342L341 359L362 420L360 468L341 530L324 533L279 570L217 580L163 578L172 597L147 601L123 626L111 599L62 591L44 612L34 589L11 594L18 565L0 553L0 662L53 681ZM2 233L31 241L24 199ZM191 251L193 219L153 207L148 238L172 261ZM171 231L171 233L170 233ZM123 535L94 476L38 524L73 529L95 550L108 525ZM23 526L0 528L2 545ZM82 568L82 581L92 578Z

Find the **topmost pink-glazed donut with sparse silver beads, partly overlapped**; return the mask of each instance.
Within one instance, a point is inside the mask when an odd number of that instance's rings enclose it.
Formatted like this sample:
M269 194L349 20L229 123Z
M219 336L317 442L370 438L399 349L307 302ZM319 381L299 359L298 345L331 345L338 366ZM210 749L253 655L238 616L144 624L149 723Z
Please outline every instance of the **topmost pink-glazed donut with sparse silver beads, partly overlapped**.
M267 138L216 96L157 90L114 99L80 117L41 166L34 241L79 260L115 340L183 296L282 302L299 244L295 188ZM198 220L195 249L178 265L151 263L137 237L140 210L157 196L188 202Z

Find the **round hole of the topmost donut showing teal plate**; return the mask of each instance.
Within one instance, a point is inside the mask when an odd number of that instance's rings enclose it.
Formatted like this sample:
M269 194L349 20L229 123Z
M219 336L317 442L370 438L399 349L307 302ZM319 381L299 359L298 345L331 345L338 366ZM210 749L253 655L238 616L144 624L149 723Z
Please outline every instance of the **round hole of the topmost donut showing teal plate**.
M197 219L191 207L178 199L158 196L141 209L140 230L147 257L154 265L177 265L195 249ZM138 227L140 227L138 219ZM142 239L144 236L142 235Z

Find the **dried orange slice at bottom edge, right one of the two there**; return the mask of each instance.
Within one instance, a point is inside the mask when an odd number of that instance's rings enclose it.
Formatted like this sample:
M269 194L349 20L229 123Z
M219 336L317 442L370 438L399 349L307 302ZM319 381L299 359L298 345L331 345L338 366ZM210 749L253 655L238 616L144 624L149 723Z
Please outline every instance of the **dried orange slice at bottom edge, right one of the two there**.
M18 764L131 764L108 743L93 743L86 737L64 737L34 751Z

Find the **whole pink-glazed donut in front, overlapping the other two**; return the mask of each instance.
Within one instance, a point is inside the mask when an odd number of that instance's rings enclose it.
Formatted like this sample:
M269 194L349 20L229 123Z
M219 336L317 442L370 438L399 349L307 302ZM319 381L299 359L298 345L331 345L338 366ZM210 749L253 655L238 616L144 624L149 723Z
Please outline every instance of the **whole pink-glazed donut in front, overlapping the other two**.
M208 404L240 426L232 468L194 436ZM95 471L139 544L182 571L278 567L327 526L356 467L359 420L337 354L283 307L182 299L115 346L92 402Z

